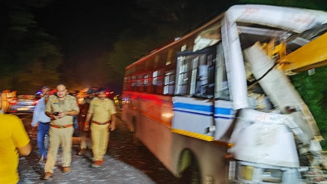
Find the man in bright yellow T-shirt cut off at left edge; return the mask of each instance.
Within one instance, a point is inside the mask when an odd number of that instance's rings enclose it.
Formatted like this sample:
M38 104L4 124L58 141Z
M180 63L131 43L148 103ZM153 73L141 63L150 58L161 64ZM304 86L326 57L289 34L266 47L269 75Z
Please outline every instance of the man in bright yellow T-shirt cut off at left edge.
M32 146L22 120L14 115L0 114L0 183L18 183L19 154L28 156L31 151Z

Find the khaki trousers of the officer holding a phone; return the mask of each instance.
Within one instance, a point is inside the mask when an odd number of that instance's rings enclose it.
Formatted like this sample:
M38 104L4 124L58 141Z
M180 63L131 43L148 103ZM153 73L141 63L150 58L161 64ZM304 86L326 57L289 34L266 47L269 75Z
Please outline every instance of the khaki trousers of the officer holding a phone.
M74 127L68 128L55 128L49 129L49 151L47 160L45 163L44 171L53 173L53 167L57 161L58 148L60 143L62 145L62 167L69 167L72 160L72 137L74 133Z

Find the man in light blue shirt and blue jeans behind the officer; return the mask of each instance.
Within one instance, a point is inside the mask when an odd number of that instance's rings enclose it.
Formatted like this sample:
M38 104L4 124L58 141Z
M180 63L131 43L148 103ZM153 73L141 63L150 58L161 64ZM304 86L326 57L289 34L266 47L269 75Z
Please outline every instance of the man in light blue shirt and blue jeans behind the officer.
M43 98L39 100L38 104L34 108L33 119L31 123L33 127L38 127L37 143L40 152L40 162L46 160L46 155L48 152L44 146L44 137L48 134L49 131L50 118L45 115L45 104L49 99L50 89L46 86L42 87L42 95Z

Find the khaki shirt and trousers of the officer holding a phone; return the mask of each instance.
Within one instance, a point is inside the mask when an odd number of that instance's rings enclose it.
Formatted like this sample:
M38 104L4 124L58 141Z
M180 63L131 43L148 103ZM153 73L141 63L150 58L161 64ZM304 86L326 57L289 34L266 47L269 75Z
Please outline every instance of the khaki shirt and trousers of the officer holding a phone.
M74 96L66 95L64 100L59 100L55 95L49 97L46 103L45 112L60 112L76 110L79 112L78 104ZM53 173L53 167L55 166L58 154L58 148L60 143L62 144L62 167L69 167L72 159L71 147L72 136L74 133L74 126L67 128L55 128L51 125L72 125L74 116L64 116L58 120L51 120L49 129L49 141L50 147L47 155L47 161L45 163L45 172Z

